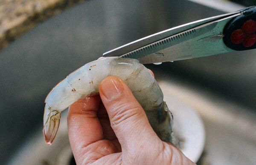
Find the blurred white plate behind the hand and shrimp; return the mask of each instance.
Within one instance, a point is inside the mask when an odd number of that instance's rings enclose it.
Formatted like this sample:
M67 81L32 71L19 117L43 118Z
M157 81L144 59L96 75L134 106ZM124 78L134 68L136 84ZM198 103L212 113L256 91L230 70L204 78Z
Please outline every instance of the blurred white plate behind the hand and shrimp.
M174 117L174 132L183 141L181 151L193 162L197 162L204 150L205 130L201 117L186 102L176 98L167 82L159 82Z

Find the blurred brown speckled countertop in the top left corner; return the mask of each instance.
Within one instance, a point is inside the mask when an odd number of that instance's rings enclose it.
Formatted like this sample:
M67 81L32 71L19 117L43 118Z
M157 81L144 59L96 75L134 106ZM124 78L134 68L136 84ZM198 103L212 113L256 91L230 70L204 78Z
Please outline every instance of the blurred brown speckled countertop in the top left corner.
M38 22L84 0L0 0L0 49Z

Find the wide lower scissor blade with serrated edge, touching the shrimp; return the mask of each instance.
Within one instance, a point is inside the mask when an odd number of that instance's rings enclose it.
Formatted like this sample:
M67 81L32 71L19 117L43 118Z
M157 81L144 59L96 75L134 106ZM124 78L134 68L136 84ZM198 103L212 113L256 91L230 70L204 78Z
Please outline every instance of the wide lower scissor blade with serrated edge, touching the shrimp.
M140 63L148 64L192 59L232 51L224 44L222 31L227 22L238 15L240 13L167 37L126 53L123 57L139 59Z

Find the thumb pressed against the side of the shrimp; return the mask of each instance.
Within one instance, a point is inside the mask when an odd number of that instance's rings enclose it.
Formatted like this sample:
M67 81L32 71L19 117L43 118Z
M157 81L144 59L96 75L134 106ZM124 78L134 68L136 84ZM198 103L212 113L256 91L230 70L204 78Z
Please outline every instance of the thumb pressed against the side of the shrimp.
M122 151L148 146L161 140L153 131L140 103L120 78L108 76L99 84L99 94L122 146Z

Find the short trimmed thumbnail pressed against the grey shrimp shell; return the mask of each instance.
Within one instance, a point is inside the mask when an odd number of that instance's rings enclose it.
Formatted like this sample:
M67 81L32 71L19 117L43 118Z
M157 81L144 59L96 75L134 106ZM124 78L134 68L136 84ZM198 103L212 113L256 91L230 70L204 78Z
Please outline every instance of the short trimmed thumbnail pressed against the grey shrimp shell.
M108 100L119 98L124 91L122 81L119 78L108 77L101 82L102 94Z

